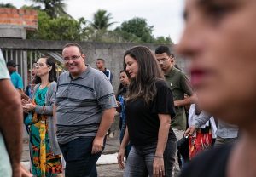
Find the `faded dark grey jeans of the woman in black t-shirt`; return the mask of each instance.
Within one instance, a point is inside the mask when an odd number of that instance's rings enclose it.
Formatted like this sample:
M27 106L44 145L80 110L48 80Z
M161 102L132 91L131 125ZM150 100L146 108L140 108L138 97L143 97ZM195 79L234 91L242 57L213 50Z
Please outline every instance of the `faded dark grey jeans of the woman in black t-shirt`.
M154 153L157 144L150 146L132 146L125 164L125 177L153 176ZM173 163L175 162L176 141L168 140L164 152L165 174L172 176Z

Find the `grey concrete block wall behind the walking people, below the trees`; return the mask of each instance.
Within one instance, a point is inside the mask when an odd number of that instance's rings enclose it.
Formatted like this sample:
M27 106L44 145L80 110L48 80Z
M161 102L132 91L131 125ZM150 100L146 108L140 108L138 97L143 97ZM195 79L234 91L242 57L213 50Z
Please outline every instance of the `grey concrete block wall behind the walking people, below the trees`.
M69 41L41 41L41 40L21 40L0 38L0 48L2 49L23 49L23 50L49 50L61 53L62 47ZM106 60L106 67L113 72L113 88L116 91L119 86L119 71L123 70L123 55L125 50L137 45L133 43L90 43L78 42L87 55L86 63L96 67L96 59ZM149 49L156 49L158 45L143 44ZM172 49L173 46L170 46ZM186 71L187 62L177 56L177 65Z

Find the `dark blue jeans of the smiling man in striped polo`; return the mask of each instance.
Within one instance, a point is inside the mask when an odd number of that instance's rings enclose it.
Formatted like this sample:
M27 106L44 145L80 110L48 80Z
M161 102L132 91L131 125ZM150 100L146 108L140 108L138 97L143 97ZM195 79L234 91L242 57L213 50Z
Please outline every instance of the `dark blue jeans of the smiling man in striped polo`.
M96 162L102 152L91 154L94 138L95 137L82 137L66 144L59 144L66 161L66 177L97 176ZM105 143L106 139L104 139L104 146Z

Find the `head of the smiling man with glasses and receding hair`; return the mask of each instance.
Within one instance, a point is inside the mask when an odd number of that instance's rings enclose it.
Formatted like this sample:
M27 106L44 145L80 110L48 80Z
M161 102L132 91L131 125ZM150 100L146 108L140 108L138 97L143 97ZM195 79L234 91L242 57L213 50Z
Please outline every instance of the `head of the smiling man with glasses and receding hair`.
M85 71L85 55L80 53L78 47L70 46L63 49L62 58L71 76L78 77L83 71Z

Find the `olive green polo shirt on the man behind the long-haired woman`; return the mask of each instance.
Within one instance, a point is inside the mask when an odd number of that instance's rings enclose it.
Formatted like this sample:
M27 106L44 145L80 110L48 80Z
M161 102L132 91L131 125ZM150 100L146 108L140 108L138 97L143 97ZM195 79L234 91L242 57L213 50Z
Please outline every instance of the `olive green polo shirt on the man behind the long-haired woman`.
M193 89L189 84L189 79L183 71L172 67L171 71L165 74L166 83L172 89L173 100L183 100L184 94L191 96ZM186 115L184 106L175 107L176 116L172 118L172 128L185 130L186 129Z

